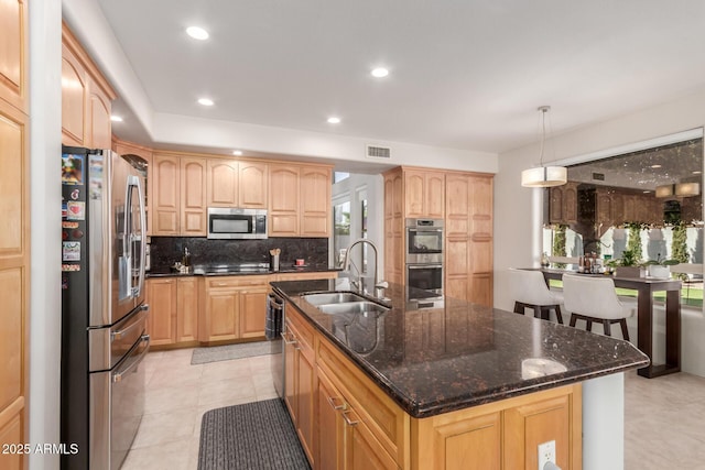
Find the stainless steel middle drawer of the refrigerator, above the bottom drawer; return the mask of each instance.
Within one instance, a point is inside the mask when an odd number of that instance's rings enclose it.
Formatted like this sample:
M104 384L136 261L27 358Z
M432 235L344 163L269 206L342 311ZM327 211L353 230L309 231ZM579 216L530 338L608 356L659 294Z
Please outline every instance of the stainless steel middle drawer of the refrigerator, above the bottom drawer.
M88 329L89 372L112 369L147 330L148 315L143 304L110 328Z

